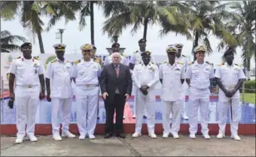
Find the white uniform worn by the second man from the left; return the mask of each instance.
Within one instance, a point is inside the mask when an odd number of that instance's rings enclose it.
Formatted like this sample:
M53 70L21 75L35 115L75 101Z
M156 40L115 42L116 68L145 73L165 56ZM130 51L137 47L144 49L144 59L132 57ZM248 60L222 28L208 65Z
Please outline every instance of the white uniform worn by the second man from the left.
M72 64L66 59L53 60L47 66L46 78L50 79L50 98L52 104L51 123L53 136L59 134L59 113L62 111L62 134L69 132L72 105Z

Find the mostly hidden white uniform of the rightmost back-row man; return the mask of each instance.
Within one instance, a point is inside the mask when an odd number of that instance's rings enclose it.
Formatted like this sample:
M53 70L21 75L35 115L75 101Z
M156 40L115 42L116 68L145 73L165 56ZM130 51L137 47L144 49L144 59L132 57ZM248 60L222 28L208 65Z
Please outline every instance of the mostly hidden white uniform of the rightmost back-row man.
M181 55L179 58L176 56L175 58L175 61L176 62L182 62L184 64L184 71L186 71L187 69L187 57L184 56L184 55ZM187 92L187 83L186 81L184 81L183 85L182 85L182 88L184 89L184 99L182 101L182 105L181 105L181 116L184 118L185 116L187 116L187 113L186 113L186 92Z

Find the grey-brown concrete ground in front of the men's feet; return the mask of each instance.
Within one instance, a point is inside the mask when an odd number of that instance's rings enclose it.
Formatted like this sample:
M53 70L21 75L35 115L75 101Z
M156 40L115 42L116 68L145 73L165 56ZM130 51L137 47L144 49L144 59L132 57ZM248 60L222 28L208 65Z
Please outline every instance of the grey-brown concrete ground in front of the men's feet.
M51 136L39 136L38 142L24 140L15 144L15 137L1 137L1 156L255 156L255 137L241 136L241 141L226 137L222 140L212 136L205 140L202 136L197 139L181 135L176 140L172 137L157 139L143 135L133 138L128 135L125 140L112 137L104 139L97 135L95 140L78 140L64 138L54 141Z

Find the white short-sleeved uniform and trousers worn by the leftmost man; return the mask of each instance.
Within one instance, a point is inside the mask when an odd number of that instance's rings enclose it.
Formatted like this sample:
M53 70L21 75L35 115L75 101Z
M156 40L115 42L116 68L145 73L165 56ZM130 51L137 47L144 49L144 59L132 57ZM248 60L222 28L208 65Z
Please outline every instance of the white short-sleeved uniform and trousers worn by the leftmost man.
M15 74L15 104L17 137L35 134L35 114L38 109L40 80L44 68L37 59L21 56L11 63L9 73ZM25 131L26 128L26 131Z

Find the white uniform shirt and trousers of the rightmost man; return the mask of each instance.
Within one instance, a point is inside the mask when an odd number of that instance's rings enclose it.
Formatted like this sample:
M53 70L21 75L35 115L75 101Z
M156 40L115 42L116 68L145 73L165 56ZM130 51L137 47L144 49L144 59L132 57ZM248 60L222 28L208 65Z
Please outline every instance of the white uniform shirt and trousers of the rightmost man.
M221 79L224 88L228 91L234 89L236 84L239 82L239 79L245 79L245 74L242 71L242 68L239 65L221 65L215 71L215 77ZM218 94L218 126L219 132L225 134L225 127L227 122L227 108L231 105L230 100L232 101L232 120L231 120L231 134L233 136L237 135L238 124L239 124L239 113L240 113L240 105L239 105L239 90L237 90L236 94L232 96L232 98L228 98L224 92L219 89Z

